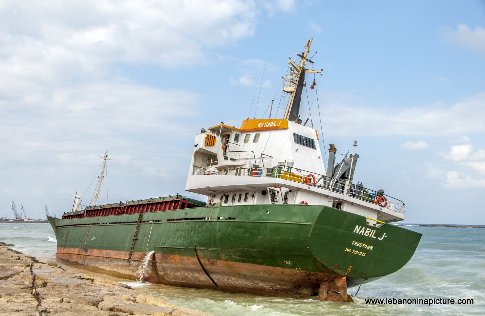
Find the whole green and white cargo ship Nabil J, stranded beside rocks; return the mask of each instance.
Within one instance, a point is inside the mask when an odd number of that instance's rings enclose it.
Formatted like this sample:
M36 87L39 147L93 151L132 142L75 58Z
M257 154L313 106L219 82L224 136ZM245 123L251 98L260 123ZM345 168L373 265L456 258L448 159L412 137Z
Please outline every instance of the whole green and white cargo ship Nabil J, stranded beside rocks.
M82 206L76 197L72 211L48 217L58 260L151 283L346 302L348 287L403 267L421 237L391 224L404 219L404 202L355 183L356 142L337 164L329 144L325 168L317 130L300 119L306 76L313 89L322 73L311 42L289 58L283 118L195 135L185 190L207 200Z

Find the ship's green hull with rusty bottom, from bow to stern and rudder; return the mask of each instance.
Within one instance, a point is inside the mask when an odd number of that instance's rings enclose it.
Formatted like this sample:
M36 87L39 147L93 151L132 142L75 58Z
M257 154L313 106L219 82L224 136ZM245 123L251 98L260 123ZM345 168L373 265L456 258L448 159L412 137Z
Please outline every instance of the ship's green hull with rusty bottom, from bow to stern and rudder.
M325 287L341 296L327 299L344 301L351 300L347 286L403 267L421 237L316 205L197 207L49 222L57 258L71 266L136 279L146 259L145 280L152 283L297 298Z

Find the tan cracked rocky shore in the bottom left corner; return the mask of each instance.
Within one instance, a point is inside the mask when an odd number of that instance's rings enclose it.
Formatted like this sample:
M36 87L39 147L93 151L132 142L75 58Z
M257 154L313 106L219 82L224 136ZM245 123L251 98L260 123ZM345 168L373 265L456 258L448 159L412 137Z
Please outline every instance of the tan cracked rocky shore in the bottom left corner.
M2 316L210 316L149 297L128 285L43 263L0 242Z

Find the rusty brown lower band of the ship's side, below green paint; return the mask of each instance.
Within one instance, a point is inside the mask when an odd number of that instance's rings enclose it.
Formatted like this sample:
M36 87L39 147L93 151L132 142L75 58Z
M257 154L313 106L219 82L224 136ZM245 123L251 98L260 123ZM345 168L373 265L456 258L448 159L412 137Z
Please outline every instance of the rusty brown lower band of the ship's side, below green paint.
M196 250L196 249L194 249ZM68 266L137 279L146 253L128 251L58 248L57 258ZM175 254L154 253L145 280L182 287L210 288L233 293L306 298L316 295L322 283L341 275L308 272L292 268L263 266Z

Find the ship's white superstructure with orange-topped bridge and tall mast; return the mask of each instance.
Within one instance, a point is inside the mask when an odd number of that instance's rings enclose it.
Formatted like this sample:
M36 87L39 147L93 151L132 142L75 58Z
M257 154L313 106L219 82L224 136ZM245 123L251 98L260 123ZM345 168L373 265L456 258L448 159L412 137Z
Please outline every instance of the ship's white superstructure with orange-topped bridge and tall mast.
M283 77L289 93L285 117L246 119L241 127L219 124L195 136L186 190L206 195L211 203L326 205L366 216L370 225L404 219L404 203L352 183L358 155L335 164L330 144L329 170L325 170L317 131L302 125L298 110L305 73L315 73L290 61L290 75ZM296 101L295 101L296 100ZM296 104L297 102L298 104ZM356 146L356 144L355 144Z

